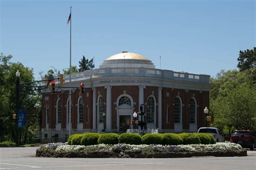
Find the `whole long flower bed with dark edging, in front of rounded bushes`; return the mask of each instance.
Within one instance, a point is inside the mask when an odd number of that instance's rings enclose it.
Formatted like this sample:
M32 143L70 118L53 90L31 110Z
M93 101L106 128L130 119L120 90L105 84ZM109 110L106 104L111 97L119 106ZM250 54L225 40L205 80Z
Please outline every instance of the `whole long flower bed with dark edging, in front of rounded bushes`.
M36 151L37 157L67 158L182 158L182 157L234 157L246 156L246 150L234 143L212 145L68 145L68 143L50 143Z

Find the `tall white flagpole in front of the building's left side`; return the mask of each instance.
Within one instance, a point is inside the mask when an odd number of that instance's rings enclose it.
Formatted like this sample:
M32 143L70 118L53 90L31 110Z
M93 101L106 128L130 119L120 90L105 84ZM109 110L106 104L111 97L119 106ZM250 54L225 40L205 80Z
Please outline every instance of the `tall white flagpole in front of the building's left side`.
M71 8L72 6L70 6L70 16L71 16ZM72 74L72 70L71 70L71 21L72 19L70 19L70 51L69 51L69 86L71 87L71 74ZM69 89L69 136L71 135L71 88Z

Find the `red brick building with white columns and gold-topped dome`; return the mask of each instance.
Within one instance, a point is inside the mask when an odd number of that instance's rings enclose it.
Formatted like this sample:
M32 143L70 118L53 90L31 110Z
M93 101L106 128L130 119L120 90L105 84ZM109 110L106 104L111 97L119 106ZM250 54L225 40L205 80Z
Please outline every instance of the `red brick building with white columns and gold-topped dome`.
M70 87L69 75L64 77L64 86ZM42 138L66 140L70 100L71 134L137 128L129 123L140 103L144 104L147 129L179 133L196 132L205 126L203 110L209 107L209 75L156 69L144 56L123 52L104 60L98 69L72 74L71 87L79 87L80 83L85 85L84 93L76 91L71 98L60 91L43 95Z

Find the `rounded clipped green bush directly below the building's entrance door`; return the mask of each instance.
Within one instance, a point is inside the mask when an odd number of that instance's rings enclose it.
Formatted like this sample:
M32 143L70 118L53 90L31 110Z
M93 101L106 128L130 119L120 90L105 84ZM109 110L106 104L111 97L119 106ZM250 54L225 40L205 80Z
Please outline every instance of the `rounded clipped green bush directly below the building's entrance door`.
M119 143L140 145L142 144L142 137L137 133L123 133L119 136Z

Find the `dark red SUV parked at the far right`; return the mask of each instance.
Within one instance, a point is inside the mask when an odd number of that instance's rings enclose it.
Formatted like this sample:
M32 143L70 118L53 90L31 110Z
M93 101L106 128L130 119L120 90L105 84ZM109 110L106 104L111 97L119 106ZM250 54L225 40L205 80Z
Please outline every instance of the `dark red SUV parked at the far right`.
M239 144L245 148L250 148L251 151L254 151L256 137L253 131L235 130L231 136L230 142Z

